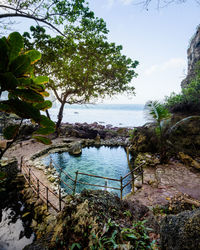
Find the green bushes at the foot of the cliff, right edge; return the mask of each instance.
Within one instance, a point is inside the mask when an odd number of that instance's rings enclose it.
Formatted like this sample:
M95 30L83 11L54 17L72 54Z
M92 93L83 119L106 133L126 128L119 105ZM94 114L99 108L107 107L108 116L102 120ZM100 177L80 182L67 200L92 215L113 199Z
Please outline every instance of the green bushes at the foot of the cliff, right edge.
M171 112L200 112L200 62L196 64L196 74L190 84L182 89L180 94L174 92L165 99L165 106Z

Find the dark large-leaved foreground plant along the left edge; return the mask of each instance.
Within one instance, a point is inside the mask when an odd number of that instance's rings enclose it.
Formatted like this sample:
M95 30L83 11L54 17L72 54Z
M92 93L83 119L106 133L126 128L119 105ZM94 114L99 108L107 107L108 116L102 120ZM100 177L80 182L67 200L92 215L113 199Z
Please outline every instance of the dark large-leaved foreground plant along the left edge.
M54 123L40 113L51 107L51 102L44 99L48 96L45 90L48 77L34 75L33 66L40 58L41 54L36 50L23 50L23 38L17 32L11 33L7 39L0 39L0 97L3 92L8 93L7 100L0 100L0 111L21 118L20 124L4 129L4 137L11 142L0 150L0 158L17 139L23 119L31 119L40 125L33 138L45 144L51 143L46 135L54 132Z

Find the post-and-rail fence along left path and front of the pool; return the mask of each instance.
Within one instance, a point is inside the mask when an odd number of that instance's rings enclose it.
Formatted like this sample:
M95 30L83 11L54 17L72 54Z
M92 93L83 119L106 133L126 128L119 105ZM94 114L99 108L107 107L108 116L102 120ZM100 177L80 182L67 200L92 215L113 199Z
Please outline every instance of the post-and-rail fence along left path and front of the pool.
M60 172L59 177L58 177L58 194L53 192L49 187L47 187L45 184L43 184L39 178L34 174L34 172L31 170L31 166L27 166L23 162L23 157L21 157L21 163L20 163L20 171L24 175L25 180L28 182L29 186L32 188L32 190L35 192L37 195L37 198L40 198L46 203L47 210L49 207L52 207L56 212L59 212L62 210L62 207L65 204L65 201L62 199L61 195L61 184L64 185L64 187L68 188L71 191L71 194L76 193L76 188L77 184L83 184L83 185L89 185L89 186L94 186L94 187L100 187L104 188L104 190L107 189L113 189L113 190L118 190L120 191L120 198L122 199L123 197L123 190L130 184L132 184L132 189L134 192L135 189L135 180L138 178L138 176L142 177L142 184L143 184L143 165L138 166L137 168L133 169L130 171L127 175L124 177L120 177L120 179L114 179L114 178L109 178L109 177L103 177L103 176L98 176L98 175L92 175L92 174L87 174L87 173L82 173L82 172L76 172L75 173L75 178L73 179L68 173L66 173L62 168L57 166L55 163L50 163L53 164ZM68 179L71 180L73 185L71 186L69 183L66 183L61 178L61 173L64 174ZM88 182L83 182L79 181L78 177L80 175L85 175L89 176L91 178L97 178L97 179L104 179L105 180L105 185L97 185L97 184L92 184ZM123 182L131 176L131 180L128 181L126 184L123 184ZM108 186L108 181L115 181L119 183L119 187L113 187L113 186Z

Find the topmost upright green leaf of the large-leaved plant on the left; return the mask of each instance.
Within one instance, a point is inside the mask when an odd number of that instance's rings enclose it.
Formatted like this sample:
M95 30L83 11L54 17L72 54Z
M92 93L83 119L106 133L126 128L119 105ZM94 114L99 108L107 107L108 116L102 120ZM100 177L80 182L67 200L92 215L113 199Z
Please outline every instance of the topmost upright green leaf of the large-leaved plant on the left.
M23 38L18 32L13 32L8 37L10 47L9 62L11 63L19 56L21 49L24 47Z

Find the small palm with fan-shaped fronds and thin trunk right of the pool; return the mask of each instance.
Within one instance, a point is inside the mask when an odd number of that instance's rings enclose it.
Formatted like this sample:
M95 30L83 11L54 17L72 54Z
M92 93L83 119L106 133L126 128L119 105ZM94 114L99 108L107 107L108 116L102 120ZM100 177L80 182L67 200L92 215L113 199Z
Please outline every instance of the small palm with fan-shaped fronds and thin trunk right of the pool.
M168 109L159 101L148 101L145 104L145 113L147 119L156 123L156 135L159 138L160 161L166 161L166 141L163 134L165 121L170 118L171 114Z

